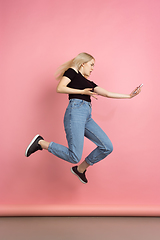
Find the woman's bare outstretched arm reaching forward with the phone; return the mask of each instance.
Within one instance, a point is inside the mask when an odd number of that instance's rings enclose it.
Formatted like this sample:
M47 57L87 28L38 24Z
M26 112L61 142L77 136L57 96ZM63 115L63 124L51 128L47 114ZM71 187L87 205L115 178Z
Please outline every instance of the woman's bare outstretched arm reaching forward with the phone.
M137 87L130 94L121 94L121 93L109 92L109 91L105 90L104 88L97 86L94 88L94 92L103 97L117 98L117 99L125 99L125 98L129 99L129 98L133 98L136 95L138 95L141 92L141 88Z

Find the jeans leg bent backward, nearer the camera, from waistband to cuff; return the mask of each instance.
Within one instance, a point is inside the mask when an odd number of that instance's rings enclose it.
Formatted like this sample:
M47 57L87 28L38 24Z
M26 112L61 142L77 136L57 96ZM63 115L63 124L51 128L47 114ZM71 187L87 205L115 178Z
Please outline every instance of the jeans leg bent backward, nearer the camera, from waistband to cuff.
M83 100L75 99L70 101L64 116L68 148L51 142L48 151L68 162L78 163L81 160L83 151L86 118Z

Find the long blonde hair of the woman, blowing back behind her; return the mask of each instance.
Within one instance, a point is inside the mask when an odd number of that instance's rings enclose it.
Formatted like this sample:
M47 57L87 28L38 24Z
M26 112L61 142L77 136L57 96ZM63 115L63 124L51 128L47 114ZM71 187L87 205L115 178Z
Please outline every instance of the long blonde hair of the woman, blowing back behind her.
M60 80L63 77L64 72L71 67L75 67L77 70L80 69L81 65L83 63L87 63L89 61L91 61L92 59L94 59L94 57L88 53L80 53L78 54L75 58L73 58L72 60L65 62L64 64L62 64L58 70L56 71L56 79Z

